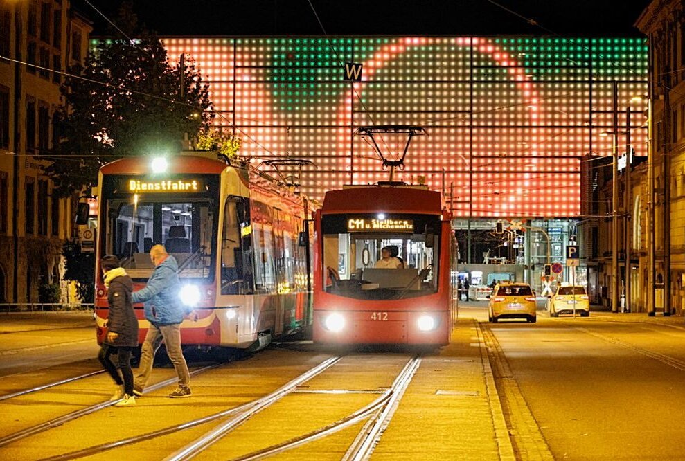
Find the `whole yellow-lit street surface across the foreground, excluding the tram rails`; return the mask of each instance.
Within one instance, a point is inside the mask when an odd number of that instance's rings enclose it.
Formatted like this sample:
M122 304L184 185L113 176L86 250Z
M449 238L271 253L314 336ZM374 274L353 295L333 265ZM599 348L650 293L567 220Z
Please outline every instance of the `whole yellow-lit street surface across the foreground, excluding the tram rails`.
M685 458L682 449L685 435L681 428L685 406L685 326L682 317L648 318L645 314L593 312L589 318L549 318L541 311L537 324L517 320L488 324L486 303L464 303L460 318L454 342L425 358L371 459ZM478 320L480 327L469 320L471 318ZM70 329L64 329L61 324L47 329L38 326L24 327L23 331L21 327L15 327L11 333L0 334L0 394L28 388L39 381L54 380L60 375L66 377L70 373L98 368L92 360L97 347L94 341L89 341L93 335L91 325L74 324ZM65 339L70 341L65 342ZM141 399L136 408L100 410L26 441L0 447L0 455L36 459L70 453L105 440L116 440L230 408L278 388L330 352L306 341L300 346L284 347L260 352L193 378L193 399L168 399L169 389L164 388ZM55 365L59 357L64 361L63 365L47 368L47 365ZM81 357L88 357L90 361L83 361ZM370 364L372 358L377 361L373 366L376 374L388 366L397 367L392 363L397 360L393 354L369 354L367 361ZM332 371L344 371L345 363L342 361ZM25 372L10 377L13 367L21 367ZM352 372L345 372L341 379L325 381L321 389L377 388L377 384L371 386L355 377L354 373L361 368L356 365L348 368ZM155 381L173 376L173 369L169 367L154 370ZM492 386L486 386L483 381L488 376ZM12 419L6 418L3 423L6 430L12 432L101 401L107 397L110 387L109 379L98 375L4 401L0 404L3 407L0 414L12 415ZM451 392L447 392L447 397L445 390ZM344 395L368 400L374 394ZM270 421L281 421L283 428L288 426L294 432L320 426L323 423L313 423L326 412L330 413L331 408L321 406L319 410L316 404L312 405L311 402L321 397L317 396L317 392L300 392L293 397L293 401L310 402L301 407L310 413L283 405L274 406L275 415L269 410L253 417L226 439L229 449L233 450L239 444L246 449L256 446L252 442L253 435L260 431L268 435L266 426ZM348 398L343 396L335 398ZM329 400L326 405L330 406ZM500 401L501 408L498 406ZM357 403L359 406L364 402ZM439 415L448 404L453 406L450 411ZM280 413L278 408L282 410ZM341 415L349 410L343 409ZM490 411L492 415L488 414ZM305 414L307 421L301 420ZM496 414L501 417L499 426ZM118 427L125 431L103 433L98 429L112 424L114 417ZM476 419L483 424L477 424ZM459 426L459 422L466 426ZM103 453L103 458L114 455L162 459L206 430L206 426L200 426L181 431ZM350 428L350 431L353 435L357 428ZM428 440L426 432L434 431L441 434L436 440L418 443L420 439ZM71 437L74 433L80 436ZM285 437L286 433L281 435ZM303 446L282 459L321 459L323 453L330 459L339 459L341 446L344 446L340 441L344 439L348 443L349 435L339 433L337 437ZM422 436L414 437L416 435ZM516 456L508 456L506 450L501 449L505 442L510 442ZM160 446L168 449L160 449ZM212 453L210 451L204 457L211 458ZM220 458L231 458L235 454L231 453L226 451ZM421 456L417 457L417 453ZM459 455L450 458L450 453Z

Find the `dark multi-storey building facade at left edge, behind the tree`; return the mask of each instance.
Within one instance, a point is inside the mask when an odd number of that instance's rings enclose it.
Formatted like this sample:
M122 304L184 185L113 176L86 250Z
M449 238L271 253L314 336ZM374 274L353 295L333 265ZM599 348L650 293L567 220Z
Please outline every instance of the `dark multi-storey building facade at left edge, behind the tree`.
M10 58L0 59L0 302L39 302L46 284L71 301L62 244L75 231L76 198L55 197L44 166L63 104L53 71L83 64L91 30L68 0L0 2L0 55Z

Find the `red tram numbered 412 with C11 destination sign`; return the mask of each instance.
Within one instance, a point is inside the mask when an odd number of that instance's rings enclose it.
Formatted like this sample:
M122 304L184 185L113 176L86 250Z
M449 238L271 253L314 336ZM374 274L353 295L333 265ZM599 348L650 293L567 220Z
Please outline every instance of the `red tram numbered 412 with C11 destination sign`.
M402 183L326 192L314 235L314 343L449 342L454 234L439 192ZM397 268L379 268L382 248L401 258Z

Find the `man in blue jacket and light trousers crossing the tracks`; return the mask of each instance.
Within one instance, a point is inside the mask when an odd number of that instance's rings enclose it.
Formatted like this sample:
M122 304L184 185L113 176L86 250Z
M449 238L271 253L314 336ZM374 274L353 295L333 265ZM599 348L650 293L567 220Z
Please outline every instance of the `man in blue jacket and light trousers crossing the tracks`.
M179 385L174 392L169 394L169 397L175 399L190 397L190 374L181 350L181 322L183 322L186 309L181 305L179 298L181 287L177 275L179 266L176 258L169 255L162 245L150 248L150 260L154 264L154 271L148 279L148 284L132 295L134 304L143 302L145 318L150 322L148 334L141 347L141 363L133 392L137 396L143 395L143 389L147 386L150 372L152 372L154 354L164 341L166 353L179 377Z

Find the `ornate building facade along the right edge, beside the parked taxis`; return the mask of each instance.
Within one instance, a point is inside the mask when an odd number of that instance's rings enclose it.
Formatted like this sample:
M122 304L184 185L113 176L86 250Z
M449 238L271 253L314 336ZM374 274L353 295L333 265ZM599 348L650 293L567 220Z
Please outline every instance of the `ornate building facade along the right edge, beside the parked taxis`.
M611 177L600 177L597 222L598 280L610 280L612 239L619 239L619 289L625 294L630 269L632 311L650 315L685 311L685 2L655 0L636 26L649 48L648 110L635 120L648 120L648 161L619 175L619 222L611 227ZM635 125L633 125L635 129ZM621 127L621 139L628 132ZM632 131L631 131L632 132ZM619 143L621 147L627 143ZM625 150L619 149L619 155ZM625 158L625 157L624 157ZM626 191L626 189L628 189ZM630 261L626 264L626 250ZM603 298L605 296L600 296ZM600 299L601 300L601 299ZM605 301L606 302L606 301Z

